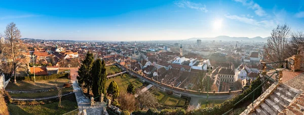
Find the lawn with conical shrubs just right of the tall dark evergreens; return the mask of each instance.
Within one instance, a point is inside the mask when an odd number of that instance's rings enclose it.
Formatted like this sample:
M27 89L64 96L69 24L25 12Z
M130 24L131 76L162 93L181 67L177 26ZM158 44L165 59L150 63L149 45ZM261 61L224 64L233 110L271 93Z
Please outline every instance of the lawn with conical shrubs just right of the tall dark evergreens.
M116 78L108 79L106 81L105 86L108 87L112 81L115 81L117 83L119 90L121 92L127 92L127 87L129 83L133 83L135 89L140 88L142 86L142 83L139 81L139 78L131 77L128 74L123 74L122 76L117 76Z

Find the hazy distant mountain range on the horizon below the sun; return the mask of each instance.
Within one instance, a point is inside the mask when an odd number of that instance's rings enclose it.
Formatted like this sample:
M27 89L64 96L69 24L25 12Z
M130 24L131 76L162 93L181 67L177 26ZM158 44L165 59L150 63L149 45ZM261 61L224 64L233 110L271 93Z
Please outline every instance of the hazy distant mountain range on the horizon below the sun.
M267 38L262 38L260 36L249 38L249 37L230 37L230 36L217 36L217 37L204 37L204 38L189 38L188 40L222 40L222 41L256 41L256 42L267 42Z

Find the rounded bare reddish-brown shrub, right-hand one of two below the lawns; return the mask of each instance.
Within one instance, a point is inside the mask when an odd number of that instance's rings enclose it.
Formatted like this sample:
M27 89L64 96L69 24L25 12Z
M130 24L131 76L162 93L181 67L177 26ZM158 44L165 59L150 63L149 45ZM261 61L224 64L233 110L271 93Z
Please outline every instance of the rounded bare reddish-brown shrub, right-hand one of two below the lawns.
M149 91L141 92L138 90L137 94L137 102L140 110L142 110L144 106L147 108L156 108L159 105L157 98Z

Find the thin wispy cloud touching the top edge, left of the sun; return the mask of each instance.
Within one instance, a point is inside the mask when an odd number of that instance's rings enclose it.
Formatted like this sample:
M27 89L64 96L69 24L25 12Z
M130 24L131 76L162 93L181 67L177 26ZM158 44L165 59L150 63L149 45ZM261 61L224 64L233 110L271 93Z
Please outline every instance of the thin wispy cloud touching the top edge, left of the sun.
M174 2L174 5L180 8L190 8L190 9L196 9L202 12L208 12L206 5L202 5L200 3L193 3L189 1L176 1Z

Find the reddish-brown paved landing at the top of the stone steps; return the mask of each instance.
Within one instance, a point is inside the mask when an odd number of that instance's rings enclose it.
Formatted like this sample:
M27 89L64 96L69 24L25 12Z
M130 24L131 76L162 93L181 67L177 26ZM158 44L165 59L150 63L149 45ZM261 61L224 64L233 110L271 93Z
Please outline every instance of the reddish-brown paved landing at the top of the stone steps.
M293 79L290 79L289 81L284 83L285 85L288 85L290 87L293 87L295 89L304 90L304 73L294 77Z

